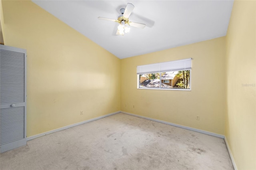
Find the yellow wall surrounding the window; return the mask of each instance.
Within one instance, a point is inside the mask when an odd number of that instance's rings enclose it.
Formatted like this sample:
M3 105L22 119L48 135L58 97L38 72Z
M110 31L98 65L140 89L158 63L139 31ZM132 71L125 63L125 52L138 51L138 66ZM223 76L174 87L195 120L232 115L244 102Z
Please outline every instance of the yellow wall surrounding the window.
M192 91L137 89L136 66L192 60ZM121 60L121 110L224 134L225 38L216 38ZM215 83L216 79L219 83ZM134 105L134 108L133 108ZM196 121L196 115L200 121Z

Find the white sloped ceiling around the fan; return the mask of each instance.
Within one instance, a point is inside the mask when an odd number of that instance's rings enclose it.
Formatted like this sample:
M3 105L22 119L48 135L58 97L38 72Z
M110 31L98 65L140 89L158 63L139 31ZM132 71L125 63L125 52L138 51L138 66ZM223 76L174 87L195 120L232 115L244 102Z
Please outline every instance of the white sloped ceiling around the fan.
M33 0L70 27L123 59L172 47L226 36L233 0ZM117 36L117 19L127 3L135 8L131 27Z

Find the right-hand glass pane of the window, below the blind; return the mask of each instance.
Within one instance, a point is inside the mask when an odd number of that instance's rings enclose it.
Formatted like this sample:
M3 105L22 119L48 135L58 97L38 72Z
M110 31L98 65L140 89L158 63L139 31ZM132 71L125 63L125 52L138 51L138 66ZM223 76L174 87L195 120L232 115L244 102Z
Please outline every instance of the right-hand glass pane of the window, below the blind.
M161 77L161 84L165 89L190 89L190 70L166 72Z

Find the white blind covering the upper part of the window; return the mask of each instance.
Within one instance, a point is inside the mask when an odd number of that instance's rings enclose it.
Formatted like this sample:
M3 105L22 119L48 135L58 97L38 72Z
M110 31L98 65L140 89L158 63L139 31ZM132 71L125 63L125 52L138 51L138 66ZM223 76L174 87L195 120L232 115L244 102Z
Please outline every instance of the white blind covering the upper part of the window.
M137 66L137 74L182 71L191 69L192 58Z

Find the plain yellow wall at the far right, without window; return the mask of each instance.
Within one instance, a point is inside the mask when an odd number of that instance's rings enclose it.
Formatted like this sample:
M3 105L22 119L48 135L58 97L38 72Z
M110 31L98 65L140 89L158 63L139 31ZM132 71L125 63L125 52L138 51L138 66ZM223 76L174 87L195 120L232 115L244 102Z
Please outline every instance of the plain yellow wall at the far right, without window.
M238 169L256 169L256 1L235 1L226 36L225 136Z

